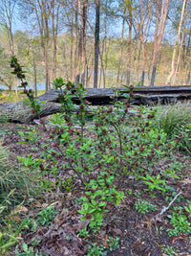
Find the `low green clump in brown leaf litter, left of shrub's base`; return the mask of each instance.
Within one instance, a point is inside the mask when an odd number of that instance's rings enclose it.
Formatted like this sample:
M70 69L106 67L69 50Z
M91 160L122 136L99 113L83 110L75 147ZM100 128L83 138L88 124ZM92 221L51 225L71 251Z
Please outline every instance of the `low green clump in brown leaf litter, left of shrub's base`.
M54 207L45 208L37 214L38 218L36 221L41 225L47 225L53 221L53 216L55 217L56 215L57 212L55 212Z

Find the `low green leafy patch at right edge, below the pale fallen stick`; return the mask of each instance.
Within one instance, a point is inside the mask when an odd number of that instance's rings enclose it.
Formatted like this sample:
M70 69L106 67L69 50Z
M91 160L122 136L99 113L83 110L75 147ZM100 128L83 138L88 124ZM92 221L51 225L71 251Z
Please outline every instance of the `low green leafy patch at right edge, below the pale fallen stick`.
M167 229L168 235L172 236L179 236L180 233L185 235L191 232L191 223L187 221L187 217L182 214L182 209L178 209L177 212L173 212L172 215L168 215L170 219L170 223L174 227L173 229Z

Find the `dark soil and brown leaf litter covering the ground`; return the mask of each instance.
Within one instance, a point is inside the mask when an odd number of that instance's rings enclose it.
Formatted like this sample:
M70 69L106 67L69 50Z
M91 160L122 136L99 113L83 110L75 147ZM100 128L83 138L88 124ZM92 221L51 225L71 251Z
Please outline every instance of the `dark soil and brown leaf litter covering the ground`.
M18 130L29 130L30 128L33 128L33 126L0 124L0 137L3 137L3 146L8 147L11 156L15 157L15 161L17 155L23 157L32 153L35 158L40 154L39 149L35 147L17 144L21 140ZM46 140L46 132L40 133L40 136L42 141ZM105 247L101 252L103 254L92 253L93 256L191 255L191 233L188 235L180 233L179 236L174 237L169 236L167 232L168 229L174 228L169 219L174 209L178 209L177 212L179 212L179 208L183 209L186 202L191 201L191 159L188 155L180 154L177 151L171 161L164 158L161 162L156 163L152 173L159 174L160 169L174 164L175 161L180 162L182 167L181 172L177 171L180 178L177 180L166 179L165 182L166 185L174 188L176 193L173 195L180 192L181 195L163 214L160 215L161 210L163 207L167 207L175 196L169 195L171 199L167 200L166 194L159 193L157 190L147 191L148 186L146 184L136 180L134 176L126 176L120 187L125 198L117 206L111 205L110 212L105 216L101 230L98 233L89 234L89 237L80 237L77 230L86 226L87 230L89 228L88 221L80 221L81 216L77 212L81 207L77 198L83 194L83 191L80 191L78 187L76 187L73 195L70 191L46 191L46 193L41 193L37 197L28 198L24 202L23 211L20 211L15 221L19 222L27 217L36 220L37 213L50 205L53 205L56 215L46 225L38 223L36 230L21 232L19 236L23 240L17 245L17 250L21 252L25 243L28 244L28 247L32 246L37 249L38 253L41 253L39 255L80 256L87 255L88 246L96 244ZM66 174L62 172L60 175L64 179ZM156 210L145 213L138 212L135 207L138 200L156 205ZM188 221L191 221L190 217ZM109 237L119 238L119 241L108 242ZM119 245L118 248L117 245ZM15 247L12 247L12 252L10 251L10 254L7 255L15 255L13 250L15 251Z

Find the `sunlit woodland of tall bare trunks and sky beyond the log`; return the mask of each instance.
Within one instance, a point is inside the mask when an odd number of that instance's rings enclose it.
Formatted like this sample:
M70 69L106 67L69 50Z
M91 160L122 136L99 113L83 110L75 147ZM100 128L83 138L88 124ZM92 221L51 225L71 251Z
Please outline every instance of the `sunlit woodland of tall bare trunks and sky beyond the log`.
M11 56L33 88L190 85L188 0L1 0L0 85L17 91Z

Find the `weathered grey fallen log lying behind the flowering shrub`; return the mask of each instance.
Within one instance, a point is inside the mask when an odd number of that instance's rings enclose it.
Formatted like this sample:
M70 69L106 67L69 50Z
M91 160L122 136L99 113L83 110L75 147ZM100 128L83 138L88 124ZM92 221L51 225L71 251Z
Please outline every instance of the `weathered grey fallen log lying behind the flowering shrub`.
M127 93L127 88L117 88L119 90L118 99L125 100L124 93ZM105 89L87 89L85 92L86 99L92 105L108 105L111 104L111 97L114 96L113 88ZM163 87L138 87L135 89L135 98L131 100L135 105L156 105L175 103L177 101L191 99L191 86L163 86ZM45 94L37 97L43 104L40 117L45 117L53 113L61 112L58 94L52 89ZM77 99L74 98L76 105ZM77 109L77 106L76 106ZM0 119L6 118L9 122L29 124L34 119L38 119L36 114L32 114L32 109L29 105L23 102L2 104L0 105Z

